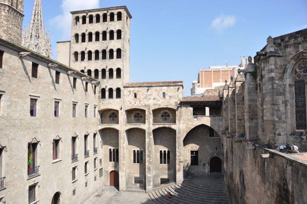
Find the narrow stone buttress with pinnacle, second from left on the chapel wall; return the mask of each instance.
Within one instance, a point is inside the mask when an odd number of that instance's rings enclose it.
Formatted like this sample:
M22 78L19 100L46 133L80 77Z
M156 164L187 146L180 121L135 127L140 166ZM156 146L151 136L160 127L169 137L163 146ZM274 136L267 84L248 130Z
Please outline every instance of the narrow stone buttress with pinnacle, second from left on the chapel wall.
M229 132L235 133L235 84L232 76L230 79L228 86L228 127Z

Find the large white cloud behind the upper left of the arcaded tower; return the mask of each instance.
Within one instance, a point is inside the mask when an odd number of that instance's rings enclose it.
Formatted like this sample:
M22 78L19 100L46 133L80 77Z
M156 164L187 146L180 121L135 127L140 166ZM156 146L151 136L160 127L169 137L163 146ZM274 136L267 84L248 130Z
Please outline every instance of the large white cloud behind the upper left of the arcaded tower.
M62 0L62 13L55 16L51 25L61 32L61 40L70 40L72 14L70 11L99 8L99 0Z

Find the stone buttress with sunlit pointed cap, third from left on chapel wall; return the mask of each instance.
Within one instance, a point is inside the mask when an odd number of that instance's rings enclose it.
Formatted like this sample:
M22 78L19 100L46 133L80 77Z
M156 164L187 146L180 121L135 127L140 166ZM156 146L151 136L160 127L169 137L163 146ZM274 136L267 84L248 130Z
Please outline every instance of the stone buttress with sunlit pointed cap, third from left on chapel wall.
M235 134L239 137L245 136L243 82L242 75L238 73L235 79Z

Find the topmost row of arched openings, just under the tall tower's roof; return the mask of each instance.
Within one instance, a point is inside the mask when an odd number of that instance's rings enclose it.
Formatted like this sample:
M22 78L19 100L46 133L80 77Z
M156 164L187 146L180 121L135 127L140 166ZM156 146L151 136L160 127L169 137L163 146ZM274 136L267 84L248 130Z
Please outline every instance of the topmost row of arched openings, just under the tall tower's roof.
M116 15L116 21L121 21L122 20L122 12L117 12L116 14L114 12L111 12L110 14L104 13L102 15L96 14L96 15L83 15L81 17L76 16L75 17L75 25L80 25L80 24L92 24L92 23L100 23L102 22L107 22L108 20L108 15L109 15L109 21L115 21L115 15ZM88 18L88 22L87 22Z

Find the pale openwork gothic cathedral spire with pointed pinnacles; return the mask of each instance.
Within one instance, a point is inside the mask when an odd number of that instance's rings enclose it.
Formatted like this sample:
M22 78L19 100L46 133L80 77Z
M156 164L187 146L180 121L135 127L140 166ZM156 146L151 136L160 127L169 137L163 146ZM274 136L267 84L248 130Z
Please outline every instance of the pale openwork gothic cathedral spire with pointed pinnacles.
M43 25L41 0L34 0L30 24L22 32L21 45L46 57L52 57L50 32Z

